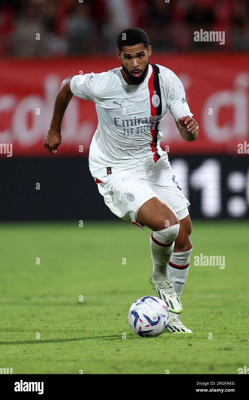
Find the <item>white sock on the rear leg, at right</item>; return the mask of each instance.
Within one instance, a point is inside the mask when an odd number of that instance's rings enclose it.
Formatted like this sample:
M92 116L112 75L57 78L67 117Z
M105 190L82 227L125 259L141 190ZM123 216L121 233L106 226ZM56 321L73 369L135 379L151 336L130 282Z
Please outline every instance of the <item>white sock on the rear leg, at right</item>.
M193 247L184 252L172 253L168 264L169 276L175 288L175 293L179 298L187 279L187 273L189 272L189 259L192 249Z

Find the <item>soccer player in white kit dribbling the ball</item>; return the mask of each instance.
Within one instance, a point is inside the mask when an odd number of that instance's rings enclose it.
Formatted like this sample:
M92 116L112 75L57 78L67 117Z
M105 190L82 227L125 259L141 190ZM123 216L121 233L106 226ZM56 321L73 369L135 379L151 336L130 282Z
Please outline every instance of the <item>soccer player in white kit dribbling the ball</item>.
M90 146L91 174L114 214L152 230L150 283L171 312L168 330L192 333L179 316L192 250L190 203L160 141L161 121L168 110L183 139L195 140L198 125L179 78L164 66L149 64L151 46L143 30L125 29L117 45L120 68L63 80L44 147L57 152L62 119L73 94L96 103L98 127Z

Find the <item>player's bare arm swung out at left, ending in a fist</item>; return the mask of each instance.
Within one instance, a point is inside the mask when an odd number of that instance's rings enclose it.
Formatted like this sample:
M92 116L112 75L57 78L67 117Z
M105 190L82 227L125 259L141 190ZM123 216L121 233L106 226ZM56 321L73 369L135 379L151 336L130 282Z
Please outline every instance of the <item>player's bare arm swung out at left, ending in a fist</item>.
M43 147L47 148L50 153L57 153L56 150L62 142L62 120L64 117L64 112L66 111L67 106L73 97L70 89L71 79L72 76L69 76L62 81L59 92L56 96L52 121L43 144Z

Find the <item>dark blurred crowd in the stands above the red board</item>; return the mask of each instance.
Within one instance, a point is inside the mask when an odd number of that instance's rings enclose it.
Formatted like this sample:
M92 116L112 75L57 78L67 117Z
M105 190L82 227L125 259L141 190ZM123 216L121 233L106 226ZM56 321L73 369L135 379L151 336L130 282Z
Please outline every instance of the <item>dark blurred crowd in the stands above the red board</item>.
M0 56L115 54L132 26L157 52L245 51L249 0L1 0ZM225 44L195 42L200 29L225 31Z

